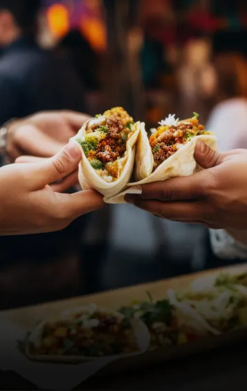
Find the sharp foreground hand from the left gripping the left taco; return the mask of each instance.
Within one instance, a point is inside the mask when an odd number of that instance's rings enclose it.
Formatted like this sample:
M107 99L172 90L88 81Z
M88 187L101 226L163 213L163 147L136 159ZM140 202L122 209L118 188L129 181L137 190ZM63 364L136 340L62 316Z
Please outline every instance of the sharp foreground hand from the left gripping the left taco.
M71 143L51 159L0 169L0 234L38 234L67 227L75 218L103 207L93 190L55 193L48 184L75 171L81 149Z

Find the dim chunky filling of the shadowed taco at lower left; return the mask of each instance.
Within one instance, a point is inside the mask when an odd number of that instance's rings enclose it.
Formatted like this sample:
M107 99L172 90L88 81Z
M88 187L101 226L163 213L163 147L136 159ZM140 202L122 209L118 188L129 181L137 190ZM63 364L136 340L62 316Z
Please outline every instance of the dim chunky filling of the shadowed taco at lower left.
M102 357L139 351L130 322L100 309L46 322L29 340L33 356Z

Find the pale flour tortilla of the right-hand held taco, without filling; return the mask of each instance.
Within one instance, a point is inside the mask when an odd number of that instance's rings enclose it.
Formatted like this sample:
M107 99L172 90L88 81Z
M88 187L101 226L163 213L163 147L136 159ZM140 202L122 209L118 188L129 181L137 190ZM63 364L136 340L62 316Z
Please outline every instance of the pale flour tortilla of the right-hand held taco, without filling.
M161 182L172 177L183 177L193 175L201 171L201 168L194 159L194 149L196 141L201 140L213 150L217 150L217 139L211 135L201 135L193 137L191 141L183 145L179 150L169 157L165 162L154 168L154 157L149 146L149 139L145 132L145 126L142 124L138 137L138 145L136 149L136 167L134 169L134 177L138 182L127 184L124 191L118 195L108 198L109 204L125 204L126 194L140 194L140 186L152 182Z

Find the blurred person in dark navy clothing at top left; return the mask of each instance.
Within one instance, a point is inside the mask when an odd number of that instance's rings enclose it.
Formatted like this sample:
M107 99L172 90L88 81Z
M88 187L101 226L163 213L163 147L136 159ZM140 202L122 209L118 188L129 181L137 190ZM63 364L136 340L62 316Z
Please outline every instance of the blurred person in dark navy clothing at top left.
M85 111L70 64L36 43L41 0L0 0L0 125L40 110Z

